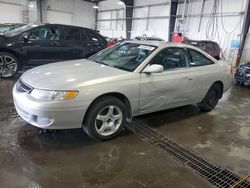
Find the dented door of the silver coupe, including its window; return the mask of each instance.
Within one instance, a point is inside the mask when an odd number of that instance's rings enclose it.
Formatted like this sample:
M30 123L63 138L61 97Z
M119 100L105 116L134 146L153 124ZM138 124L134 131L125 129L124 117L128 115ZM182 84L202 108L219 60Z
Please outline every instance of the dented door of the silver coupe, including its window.
M189 56L185 49L166 48L150 64L164 67L162 73L141 73L140 112L172 108L193 102L196 81L190 75Z

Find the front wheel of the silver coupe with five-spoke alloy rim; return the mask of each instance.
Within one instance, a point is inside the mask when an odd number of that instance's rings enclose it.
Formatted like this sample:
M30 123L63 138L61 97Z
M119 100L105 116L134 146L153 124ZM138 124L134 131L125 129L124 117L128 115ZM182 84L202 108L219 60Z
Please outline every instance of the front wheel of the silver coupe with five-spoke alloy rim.
M94 140L110 140L125 127L127 110L116 97L102 97L91 105L83 124L83 130Z

